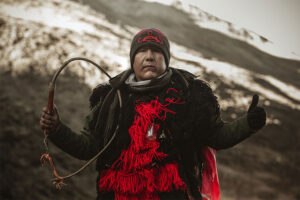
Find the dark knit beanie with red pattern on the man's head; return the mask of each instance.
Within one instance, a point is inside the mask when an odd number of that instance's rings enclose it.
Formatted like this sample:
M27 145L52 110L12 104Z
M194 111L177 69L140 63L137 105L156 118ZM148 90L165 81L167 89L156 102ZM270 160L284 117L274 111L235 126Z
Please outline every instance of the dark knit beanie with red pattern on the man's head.
M155 28L147 28L138 32L131 42L130 47L130 63L133 67L134 57L137 50L145 46L154 46L162 51L165 57L166 66L170 62L170 44L166 35Z

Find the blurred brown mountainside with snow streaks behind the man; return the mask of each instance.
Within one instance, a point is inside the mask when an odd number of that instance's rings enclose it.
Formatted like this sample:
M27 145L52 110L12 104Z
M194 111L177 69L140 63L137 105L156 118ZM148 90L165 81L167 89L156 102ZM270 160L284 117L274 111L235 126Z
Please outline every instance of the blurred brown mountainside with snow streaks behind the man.
M0 199L95 199L95 166L56 190L49 165L40 165L44 147L39 118L47 104L48 85L58 67L72 57L89 58L112 76L127 69L130 41L146 27L159 28L168 36L171 66L211 85L225 121L243 115L255 93L267 111L264 129L217 152L222 199L300 199L299 38L292 42L298 45L283 46L284 40L276 43L267 33L244 28L243 21L222 19L221 11L208 5L183 0L2 0ZM232 12L243 14L231 6ZM272 12L272 7L265 9ZM257 16L264 20L262 11L252 14L252 21L260 22ZM282 33L291 40L292 35ZM57 81L55 104L62 120L79 131L92 88L106 81L94 66L81 61L70 64ZM49 145L61 174L84 163Z

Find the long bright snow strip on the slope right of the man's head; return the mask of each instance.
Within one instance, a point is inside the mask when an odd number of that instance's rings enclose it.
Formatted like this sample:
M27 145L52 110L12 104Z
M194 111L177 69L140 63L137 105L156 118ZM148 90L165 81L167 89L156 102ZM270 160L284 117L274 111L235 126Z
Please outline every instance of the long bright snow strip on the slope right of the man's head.
M201 57L201 54L198 52L187 49L186 47L180 45L173 45L174 47L174 57L180 60L192 61L198 64L198 67L201 66L206 72L216 74L223 82L226 83L235 83L241 85L253 92L257 92L265 97L265 99L271 99L273 101L285 104L293 109L300 110L300 104L295 104L291 100L285 98L282 95L279 95L272 90L269 90L262 85L254 81L255 77L262 78L268 81L274 87L279 88L287 96L299 100L300 90L294 86L286 84L278 79L275 79L272 76L262 76L260 74L250 72L248 70L239 68L231 63L221 62L217 60L209 60ZM184 63L182 63L184 64ZM191 73L201 73L201 70L197 70L197 66L189 66L185 68L187 70L192 69ZM240 97L239 97L240 98ZM243 102L243 101L241 101ZM241 103L240 102L240 103ZM233 103L232 103L233 104ZM231 103L228 103L231 105ZM226 106L226 105L225 105Z

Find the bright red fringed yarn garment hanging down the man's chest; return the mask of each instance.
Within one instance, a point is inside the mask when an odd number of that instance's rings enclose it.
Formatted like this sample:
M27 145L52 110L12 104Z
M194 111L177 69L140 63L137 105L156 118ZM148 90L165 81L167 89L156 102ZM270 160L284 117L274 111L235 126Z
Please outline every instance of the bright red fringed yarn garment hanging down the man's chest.
M137 102L137 114L128 131L131 143L112 167L100 174L100 192L114 192L116 200L156 200L160 192L185 190L186 185L179 176L177 163L151 166L153 161L159 162L167 157L165 153L157 151L159 142L155 138L159 123L155 124L154 121L164 121L167 113L175 114L167 109L168 105L183 103L179 99L174 101L167 98L165 101L166 105L162 105L158 98L148 103Z

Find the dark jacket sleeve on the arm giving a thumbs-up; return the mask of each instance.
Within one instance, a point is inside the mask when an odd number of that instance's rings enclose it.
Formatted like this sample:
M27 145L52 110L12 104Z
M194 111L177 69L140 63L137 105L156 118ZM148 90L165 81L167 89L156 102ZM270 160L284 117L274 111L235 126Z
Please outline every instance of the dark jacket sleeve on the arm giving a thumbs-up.
M193 103L190 115L198 143L216 150L226 149L253 133L249 128L247 115L230 123L222 121L217 97L205 82L195 80L191 92Z

